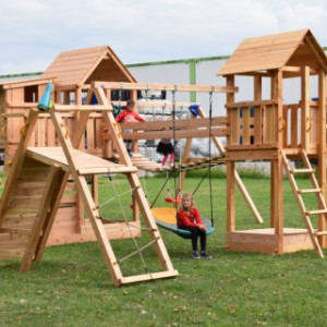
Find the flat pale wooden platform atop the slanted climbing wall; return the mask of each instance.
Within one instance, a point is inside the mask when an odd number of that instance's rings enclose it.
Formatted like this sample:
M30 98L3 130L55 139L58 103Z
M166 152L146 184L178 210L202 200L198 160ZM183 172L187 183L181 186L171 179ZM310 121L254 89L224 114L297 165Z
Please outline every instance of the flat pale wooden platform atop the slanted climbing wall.
M126 167L125 165L114 164L76 149L72 149L72 154L80 174L136 171L135 167ZM70 170L66 157L61 147L28 147L26 156L47 165L59 164L62 166L63 170Z

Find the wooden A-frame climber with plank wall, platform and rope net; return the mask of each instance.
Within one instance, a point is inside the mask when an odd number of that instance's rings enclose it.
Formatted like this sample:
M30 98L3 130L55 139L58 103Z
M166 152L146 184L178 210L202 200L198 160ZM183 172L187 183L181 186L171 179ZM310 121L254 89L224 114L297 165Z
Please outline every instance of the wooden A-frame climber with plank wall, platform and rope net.
M96 95L96 106L55 106L50 116L58 133L60 147L28 148L28 140L37 121L38 112L31 110L25 128L22 130L22 140L14 157L8 181L4 186L0 205L0 258L23 257L21 270L26 271L33 261L39 261L45 250L47 238L51 231L56 211L60 204L66 181L71 174L76 182L78 193L90 219L102 256L111 275L114 286L130 282L174 277L178 271L173 269L164 241L155 223L153 214L141 187L137 169L133 167L125 150L120 128L116 124L112 108L106 99L104 89L95 87L89 89L86 104ZM62 112L76 111L77 126L73 137L69 136L66 125L62 120ZM85 124L90 112L101 111L110 132L113 135L114 146L120 155L120 164L85 154L77 150L83 136ZM152 244L160 262L161 271L146 272L137 276L123 276L116 258L108 235L99 217L97 204L87 186L85 175L124 173L130 182L133 198L140 207ZM24 186L22 185L24 181ZM36 187L35 210L26 215L15 215L15 205L24 206L17 196L26 191L26 185ZM22 199L21 199L22 202Z

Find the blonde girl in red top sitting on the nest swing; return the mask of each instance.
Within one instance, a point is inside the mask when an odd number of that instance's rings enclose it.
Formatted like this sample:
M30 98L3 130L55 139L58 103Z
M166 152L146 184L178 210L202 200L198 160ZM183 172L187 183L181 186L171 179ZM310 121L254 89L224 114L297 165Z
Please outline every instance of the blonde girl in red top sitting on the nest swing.
M198 209L194 207L194 202L191 194L185 194L183 196L181 208L177 215L177 220L180 229L189 230L192 234L192 257L195 259L199 259L201 257L211 258L206 250L207 228L201 219ZM201 242L201 253L197 251L198 238Z

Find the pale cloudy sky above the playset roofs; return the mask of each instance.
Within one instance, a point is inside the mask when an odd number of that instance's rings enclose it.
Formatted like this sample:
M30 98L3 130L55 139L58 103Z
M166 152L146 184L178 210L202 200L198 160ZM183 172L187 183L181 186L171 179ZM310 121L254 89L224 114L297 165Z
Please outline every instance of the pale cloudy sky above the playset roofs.
M304 28L327 47L327 1L0 0L0 27L7 75L104 45L125 64L229 56L244 38Z

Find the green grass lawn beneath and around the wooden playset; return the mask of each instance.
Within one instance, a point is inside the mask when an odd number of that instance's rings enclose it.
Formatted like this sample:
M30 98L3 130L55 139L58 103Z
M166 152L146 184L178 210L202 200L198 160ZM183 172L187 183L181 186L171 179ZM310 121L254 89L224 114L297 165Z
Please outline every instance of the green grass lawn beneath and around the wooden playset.
M186 180L185 192L194 190L201 175L198 172ZM164 180L146 179L149 202ZM268 226L269 180L249 177L243 181L263 215L264 226ZM113 183L119 193L125 191L124 179L116 178ZM109 181L100 180L99 187L102 201L110 198L113 191ZM162 199L166 192L157 206L167 205ZM19 271L19 261L1 261L0 326L325 326L326 261L314 251L282 256L227 252L223 178L213 180L213 193L216 231L208 239L211 261L192 261L190 242L165 230L162 238L180 272L174 279L117 289L94 242L48 247L43 261L34 263L26 274ZM207 179L195 198L201 211L209 216ZM129 207L129 194L122 196L122 203ZM314 206L313 198L307 203ZM258 227L239 193L237 204L239 228ZM114 202L101 210L102 215L121 217ZM284 211L287 225L303 227L288 182ZM125 214L130 216L130 210ZM146 233L137 242L146 243ZM112 246L122 257L134 245L131 240L117 240ZM146 250L144 257L150 269L157 268L152 249ZM121 266L128 274L143 269L137 256Z

